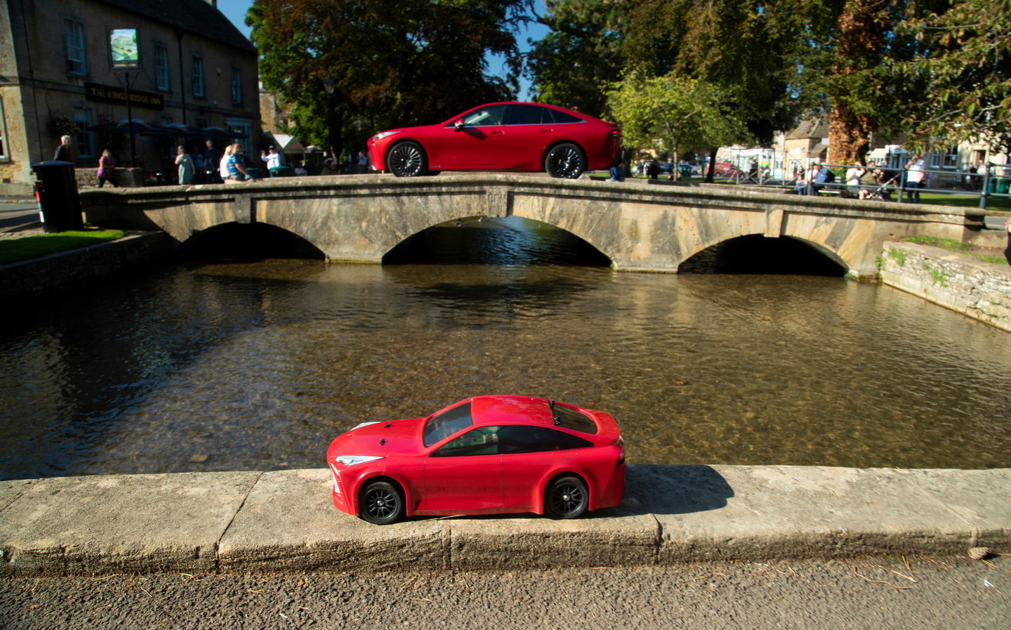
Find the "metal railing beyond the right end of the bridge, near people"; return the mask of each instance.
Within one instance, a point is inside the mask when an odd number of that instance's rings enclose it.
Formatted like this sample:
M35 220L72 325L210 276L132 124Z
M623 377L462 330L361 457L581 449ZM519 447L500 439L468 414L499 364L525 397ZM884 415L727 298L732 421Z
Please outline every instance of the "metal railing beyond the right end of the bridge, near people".
M894 181L891 181L888 185L883 185L880 183L864 184L861 183L859 186L847 186L845 180L846 171L852 168L853 165L844 164L823 164L822 168L828 168L835 175L835 180L828 183L815 183L808 182L806 186L798 186L796 179L775 179L768 175L768 171L760 171L757 176L748 175L738 175L731 177L730 181L735 184L741 185L751 185L751 186L764 186L764 187L775 187L775 188L795 188L798 190L804 190L802 194L846 194L851 192L852 189L867 189L872 194L875 198L886 198L891 200L892 194L896 195L896 201L909 200L911 196L916 196L919 198L919 193L921 192L932 192L938 194L947 195L969 195L977 196L980 198L979 207L981 209L986 209L987 200L990 198L1011 198L1011 164L995 164L988 163L987 170L984 174L974 173L972 171L960 171L952 169L923 169L924 182L929 183L931 187L910 187L907 185L906 176L908 170L906 169L882 169L883 171L895 175ZM994 170L1000 169L1001 175L995 175ZM809 169L810 173L810 169ZM891 178L890 178L891 180ZM949 187L939 187L933 184L931 180L936 180L937 182L947 181ZM884 195L879 195L881 189L884 188ZM854 193L853 196L857 196Z

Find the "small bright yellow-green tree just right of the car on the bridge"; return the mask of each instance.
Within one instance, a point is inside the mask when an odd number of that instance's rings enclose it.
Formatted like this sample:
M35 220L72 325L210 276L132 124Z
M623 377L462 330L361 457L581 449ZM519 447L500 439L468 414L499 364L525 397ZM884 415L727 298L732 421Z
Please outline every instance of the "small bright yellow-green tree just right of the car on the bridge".
M659 141L674 164L683 151L747 137L743 121L716 86L674 73L645 77L632 72L608 92L608 103L622 124L625 143L649 147Z

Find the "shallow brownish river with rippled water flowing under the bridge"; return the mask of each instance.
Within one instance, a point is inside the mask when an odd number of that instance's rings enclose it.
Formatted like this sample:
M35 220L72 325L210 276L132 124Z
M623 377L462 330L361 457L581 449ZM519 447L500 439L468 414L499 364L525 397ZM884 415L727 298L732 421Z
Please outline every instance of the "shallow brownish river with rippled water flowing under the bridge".
M838 277L493 262L191 262L20 308L0 478L321 467L480 393L606 410L632 462L1011 466L996 328Z

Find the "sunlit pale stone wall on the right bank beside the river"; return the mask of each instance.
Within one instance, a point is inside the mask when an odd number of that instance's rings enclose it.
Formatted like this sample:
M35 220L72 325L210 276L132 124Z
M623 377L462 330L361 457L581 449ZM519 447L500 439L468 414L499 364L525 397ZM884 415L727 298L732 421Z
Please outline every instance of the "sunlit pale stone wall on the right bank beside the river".
M886 242L882 281L1011 332L1011 267L936 247Z

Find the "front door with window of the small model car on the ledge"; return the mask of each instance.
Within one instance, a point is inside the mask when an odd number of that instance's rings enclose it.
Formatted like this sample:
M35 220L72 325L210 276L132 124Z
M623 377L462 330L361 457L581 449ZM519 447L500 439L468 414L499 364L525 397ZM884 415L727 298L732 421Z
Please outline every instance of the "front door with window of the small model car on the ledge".
M501 508L502 469L497 429L472 429L426 458L425 494L420 512Z

